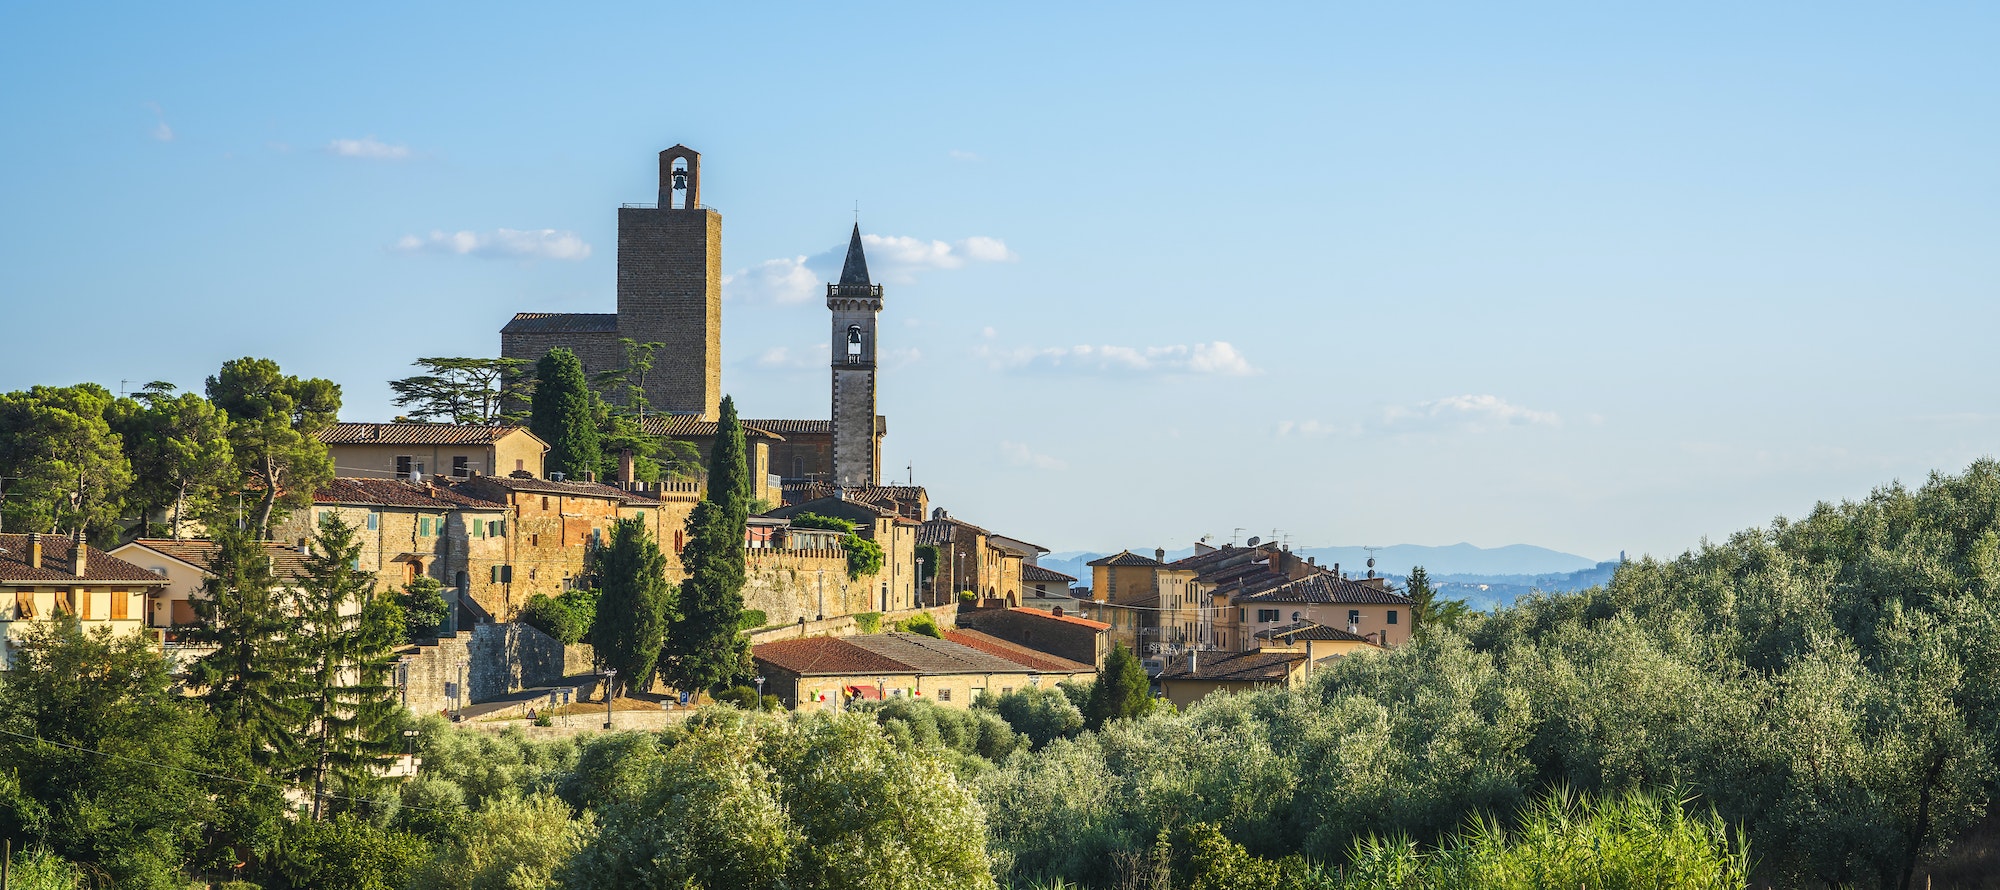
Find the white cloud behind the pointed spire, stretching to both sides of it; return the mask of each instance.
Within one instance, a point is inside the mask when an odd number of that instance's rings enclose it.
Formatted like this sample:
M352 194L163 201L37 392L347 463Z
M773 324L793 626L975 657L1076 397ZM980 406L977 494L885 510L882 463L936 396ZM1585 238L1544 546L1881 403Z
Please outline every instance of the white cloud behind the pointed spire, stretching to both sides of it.
M1014 254L1000 238L972 236L956 242L924 240L908 236L864 234L862 248L868 252L868 274L876 282L912 284L918 272L954 270L980 262L1014 262ZM722 276L722 296L726 300L768 302L794 306L824 294L824 284L840 278L846 262L846 242L812 256L780 256L756 266Z

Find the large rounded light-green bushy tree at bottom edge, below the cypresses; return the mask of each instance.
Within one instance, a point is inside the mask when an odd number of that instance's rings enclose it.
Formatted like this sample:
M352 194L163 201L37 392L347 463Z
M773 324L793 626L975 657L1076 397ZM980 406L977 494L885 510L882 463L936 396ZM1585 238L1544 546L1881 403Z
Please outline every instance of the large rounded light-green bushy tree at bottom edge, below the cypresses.
M990 888L980 806L864 716L696 716L604 802L576 888Z

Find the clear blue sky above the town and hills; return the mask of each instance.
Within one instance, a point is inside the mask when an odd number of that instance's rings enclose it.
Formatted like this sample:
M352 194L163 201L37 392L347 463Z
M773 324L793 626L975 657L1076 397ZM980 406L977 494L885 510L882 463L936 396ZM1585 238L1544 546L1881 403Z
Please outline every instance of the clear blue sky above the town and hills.
M704 154L724 388L826 416L860 202L886 460L1054 550L1676 554L1994 452L1978 4L0 8L0 386L258 354L394 414L608 312Z

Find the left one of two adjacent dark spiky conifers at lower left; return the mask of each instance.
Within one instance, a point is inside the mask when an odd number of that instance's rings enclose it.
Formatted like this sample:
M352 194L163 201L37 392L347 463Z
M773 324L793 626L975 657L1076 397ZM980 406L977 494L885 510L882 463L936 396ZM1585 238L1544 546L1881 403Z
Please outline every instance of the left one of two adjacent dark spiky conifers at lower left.
M202 584L206 596L190 600L198 622L188 638L214 650L192 664L188 686L214 712L228 756L284 776L300 764L298 732L306 722L298 620L286 610L256 532L210 522L210 534L216 554Z

